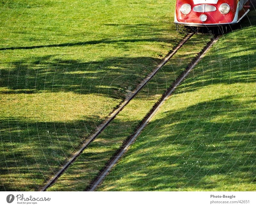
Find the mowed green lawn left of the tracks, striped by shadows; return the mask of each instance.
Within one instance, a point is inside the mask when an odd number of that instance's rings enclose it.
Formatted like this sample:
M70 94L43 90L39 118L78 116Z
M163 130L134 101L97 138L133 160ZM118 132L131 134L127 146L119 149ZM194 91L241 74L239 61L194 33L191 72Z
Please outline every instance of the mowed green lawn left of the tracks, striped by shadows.
M0 190L40 189L180 41L174 2L0 2Z

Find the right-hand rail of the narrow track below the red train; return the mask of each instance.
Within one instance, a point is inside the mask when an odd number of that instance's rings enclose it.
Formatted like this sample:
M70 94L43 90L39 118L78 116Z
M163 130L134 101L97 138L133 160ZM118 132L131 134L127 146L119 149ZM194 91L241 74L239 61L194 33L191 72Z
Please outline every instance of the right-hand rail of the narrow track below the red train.
M166 92L162 99L158 102L158 104L151 110L151 112L148 114L148 116L144 119L144 122L139 126L139 128L136 130L136 133L130 137L129 140L127 140L127 144L125 144L119 152L117 152L116 156L109 162L109 165L104 168L104 170L101 172L101 174L91 183L90 189L88 191L94 191L99 184L103 181L103 179L106 177L108 172L111 170L111 168L116 164L116 162L121 158L121 156L124 154L124 152L128 149L128 147L133 143L133 141L138 137L142 129L148 124L150 119L155 115L156 111L163 105L164 101L172 94L172 92L177 88L178 85L187 77L189 72L196 66L196 64L202 59L202 57L207 53L207 51L214 45L220 38L221 35L214 37L203 49L203 51L200 53L200 55L194 60L192 64L190 64L187 68L187 70L184 71L184 73L176 79L175 84L169 89L168 92Z

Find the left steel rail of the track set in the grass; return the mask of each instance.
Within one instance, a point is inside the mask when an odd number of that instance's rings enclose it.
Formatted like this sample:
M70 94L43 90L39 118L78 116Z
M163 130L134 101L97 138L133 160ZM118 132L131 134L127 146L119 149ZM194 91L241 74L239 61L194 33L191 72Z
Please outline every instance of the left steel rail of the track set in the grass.
M172 52L170 52L156 67L156 69L140 83L137 90L132 92L132 94L124 101L124 103L110 115L108 120L100 126L100 128L89 138L89 140L83 144L83 146L73 155L73 157L69 159L64 166L61 167L61 169L54 175L51 180L47 182L47 184L40 191L45 191L47 188L52 186L52 184L60 177L60 175L65 172L68 166L76 160L76 158L84 151L84 149L102 132L103 129L108 126L108 124L116 117L116 115L135 97L138 92L140 92L140 90L148 83L148 81L154 77L157 71L162 68L192 36L193 34L188 34L179 42L179 44L172 50Z

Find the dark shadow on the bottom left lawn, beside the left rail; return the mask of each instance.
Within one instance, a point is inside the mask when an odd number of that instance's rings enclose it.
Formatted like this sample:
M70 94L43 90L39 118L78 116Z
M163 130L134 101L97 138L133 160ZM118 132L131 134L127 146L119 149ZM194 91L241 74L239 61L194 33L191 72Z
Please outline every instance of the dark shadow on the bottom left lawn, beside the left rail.
M0 120L0 190L38 190L98 124L92 117L74 122Z

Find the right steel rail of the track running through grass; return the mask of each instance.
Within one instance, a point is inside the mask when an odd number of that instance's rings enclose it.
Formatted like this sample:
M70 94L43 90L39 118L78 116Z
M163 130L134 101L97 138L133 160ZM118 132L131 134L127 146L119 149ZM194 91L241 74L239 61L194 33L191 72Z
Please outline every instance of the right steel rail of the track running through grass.
M105 176L108 174L108 172L111 170L111 168L116 164L116 162L118 161L118 159L120 159L120 157L124 154L124 152L128 149L128 147L132 144L132 142L135 140L135 138L140 134L140 132L142 131L142 129L148 124L148 122L150 121L150 119L153 117L153 115L156 114L156 111L163 105L164 101L172 94L172 92L177 88L178 85L180 85L181 81L184 80L184 78L186 78L186 76L189 74L189 72L196 66L196 64L202 59L202 57L207 53L207 51L212 47L212 45L214 45L218 40L219 40L220 36L217 36L216 38L212 39L210 44L207 45L207 47L204 49L204 52L202 52L201 55L199 55L199 57L196 58L195 62L188 67L188 69L186 70L186 72L184 73L183 76L181 76L180 78L178 78L177 82L175 83L175 85L171 88L171 90L164 96L163 100L157 105L157 107L155 108L155 110L153 112L151 112L150 116L148 117L148 119L146 121L144 121L140 128L137 130L136 134L130 139L130 141L128 142L128 144L125 145L124 148L122 148L120 150L120 152L116 155L116 158L109 164L109 166L107 166L102 173L100 174L100 176L93 182L92 187L88 190L88 191L94 191L98 185L100 184L100 182L105 178Z

